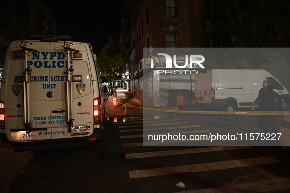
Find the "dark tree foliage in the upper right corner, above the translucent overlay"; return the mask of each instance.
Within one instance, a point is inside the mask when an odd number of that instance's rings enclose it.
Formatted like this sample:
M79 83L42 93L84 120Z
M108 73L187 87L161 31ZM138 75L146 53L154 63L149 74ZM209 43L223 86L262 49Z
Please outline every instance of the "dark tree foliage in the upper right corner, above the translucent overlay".
M288 0L231 0L225 29L235 47L289 47Z

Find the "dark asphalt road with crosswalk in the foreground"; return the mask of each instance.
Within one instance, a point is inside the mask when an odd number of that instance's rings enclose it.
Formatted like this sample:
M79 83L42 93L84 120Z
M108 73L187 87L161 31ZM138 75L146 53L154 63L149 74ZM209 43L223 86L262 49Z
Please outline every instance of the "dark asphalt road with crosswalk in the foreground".
M160 117L129 118L126 122L118 118L118 123L107 124L104 141L85 148L14 153L1 145L0 190L2 193L290 192L290 154L280 146L183 143L143 146L142 143L143 124L144 129L154 130L187 125L190 129L182 131L194 133L229 129L259 132L259 128L253 127L256 116L154 118ZM280 119L277 117L278 123ZM158 133L163 133L161 130Z

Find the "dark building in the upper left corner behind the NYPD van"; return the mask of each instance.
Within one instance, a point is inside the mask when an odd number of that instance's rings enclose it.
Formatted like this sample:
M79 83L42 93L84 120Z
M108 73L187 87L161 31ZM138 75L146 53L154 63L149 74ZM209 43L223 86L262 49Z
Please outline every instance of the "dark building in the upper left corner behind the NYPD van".
M0 3L0 66L8 44L27 34L57 33L57 22L43 0L2 0Z

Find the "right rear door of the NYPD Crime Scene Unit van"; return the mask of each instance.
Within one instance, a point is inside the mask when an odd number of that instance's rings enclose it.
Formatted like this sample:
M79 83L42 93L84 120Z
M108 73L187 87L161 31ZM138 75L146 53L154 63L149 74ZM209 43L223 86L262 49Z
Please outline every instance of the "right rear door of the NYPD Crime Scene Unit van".
M50 98L50 125L52 128L52 138L70 138L89 136L93 132L93 89L91 79L91 69L88 60L86 46L82 43L74 43L82 58L72 59L67 66L67 56L61 53L66 52L64 43L50 43L51 68L50 81L44 88L53 94ZM71 51L72 52L72 51ZM67 69L71 68L72 74L67 74ZM68 78L69 76L69 78ZM81 81L72 82L73 76L81 77ZM69 83L66 81L70 80ZM69 96L66 93L69 87ZM71 107L68 109L67 104ZM68 118L69 117L69 118ZM72 121L71 132L67 124Z

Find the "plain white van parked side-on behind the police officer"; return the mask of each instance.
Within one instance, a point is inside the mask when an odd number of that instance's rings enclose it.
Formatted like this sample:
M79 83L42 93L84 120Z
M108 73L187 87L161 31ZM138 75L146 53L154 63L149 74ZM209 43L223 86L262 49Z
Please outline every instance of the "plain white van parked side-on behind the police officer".
M212 69L199 73L196 77L196 105L224 111L252 107L264 80L283 97L285 103L279 106L279 110L289 110L288 90L265 70Z

